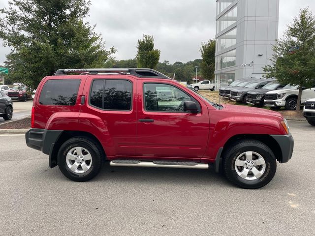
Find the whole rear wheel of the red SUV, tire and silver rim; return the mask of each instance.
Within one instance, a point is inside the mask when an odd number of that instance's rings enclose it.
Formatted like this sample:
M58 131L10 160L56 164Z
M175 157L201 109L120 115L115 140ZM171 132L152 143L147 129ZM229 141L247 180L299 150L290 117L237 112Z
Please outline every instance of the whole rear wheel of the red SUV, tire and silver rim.
M87 181L95 177L103 164L98 145L87 137L74 137L60 147L58 166L63 175L74 181Z

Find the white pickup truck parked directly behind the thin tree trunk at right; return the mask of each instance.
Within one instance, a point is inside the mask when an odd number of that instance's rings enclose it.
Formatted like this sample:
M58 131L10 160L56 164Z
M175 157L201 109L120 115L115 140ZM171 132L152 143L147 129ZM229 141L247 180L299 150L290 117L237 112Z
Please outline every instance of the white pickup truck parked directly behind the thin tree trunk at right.
M298 86L286 85L283 89L269 91L265 95L264 105L271 109L280 109L285 107L286 110L295 110L297 105ZM315 88L303 89L301 104L306 100L315 97Z

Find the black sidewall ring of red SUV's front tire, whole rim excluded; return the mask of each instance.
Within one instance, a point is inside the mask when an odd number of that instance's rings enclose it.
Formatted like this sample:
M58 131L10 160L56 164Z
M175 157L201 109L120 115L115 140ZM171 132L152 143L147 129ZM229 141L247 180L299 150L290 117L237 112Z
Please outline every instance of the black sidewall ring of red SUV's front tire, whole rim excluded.
M266 170L263 173L263 175L257 179L254 180L247 180L242 177L240 177L235 170L235 161L237 157L246 151L254 151L259 153L265 160L266 163ZM225 160L226 162L226 175L229 175L230 178L239 186L244 188L259 188L271 181L271 179L274 177L276 172L276 160L270 155L270 153L267 150L264 150L263 148L257 146L257 145L248 145L243 146L241 148L238 148L237 151L234 151L230 157Z

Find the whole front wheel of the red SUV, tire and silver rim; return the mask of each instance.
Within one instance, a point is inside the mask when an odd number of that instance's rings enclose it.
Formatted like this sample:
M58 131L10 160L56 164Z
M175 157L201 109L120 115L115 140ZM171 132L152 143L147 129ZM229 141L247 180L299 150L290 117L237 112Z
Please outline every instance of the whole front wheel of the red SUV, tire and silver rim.
M257 140L238 141L224 153L225 176L242 188L265 186L274 177L276 169L273 152Z

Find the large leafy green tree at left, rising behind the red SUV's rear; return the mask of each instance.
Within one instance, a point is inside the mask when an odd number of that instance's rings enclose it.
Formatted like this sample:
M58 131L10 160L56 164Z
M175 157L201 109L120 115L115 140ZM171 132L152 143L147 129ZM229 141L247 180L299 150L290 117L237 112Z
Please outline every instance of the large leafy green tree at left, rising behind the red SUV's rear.
M10 0L0 9L0 38L11 47L5 65L14 82L36 88L60 68L102 67L115 52L105 49L95 26L83 18L89 0Z

